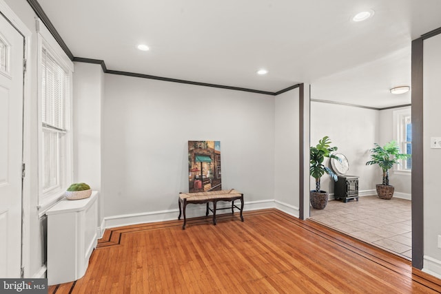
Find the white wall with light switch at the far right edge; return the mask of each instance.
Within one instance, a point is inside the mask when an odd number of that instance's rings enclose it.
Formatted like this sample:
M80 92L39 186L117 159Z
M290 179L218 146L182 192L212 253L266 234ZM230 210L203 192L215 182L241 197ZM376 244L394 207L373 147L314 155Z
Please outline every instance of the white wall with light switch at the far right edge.
M441 137L441 34L424 40L423 68L424 270L441 277L441 149L430 148L430 138Z

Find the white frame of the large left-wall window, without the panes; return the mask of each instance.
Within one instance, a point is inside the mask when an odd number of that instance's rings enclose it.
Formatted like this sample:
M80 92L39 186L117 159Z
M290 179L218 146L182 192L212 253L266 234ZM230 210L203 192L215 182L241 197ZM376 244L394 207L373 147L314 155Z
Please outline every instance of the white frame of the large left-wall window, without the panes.
M38 184L39 195L37 208L39 215L43 215L47 209L63 198L65 189L72 182L73 178L73 132L72 132L72 98L73 98L73 72L74 65L69 57L65 54L61 46L54 39L49 30L37 19L37 125L38 125ZM43 48L50 54L51 58L65 71L68 78L68 98L67 105L63 107L65 112L65 127L63 131L56 131L43 126L42 121L42 81L43 81ZM66 102L65 102L66 103ZM57 178L59 179L57 187L43 191L43 132L48 131L59 134L59 145L57 153L59 154L59 165L57 167ZM63 133L63 134L61 134Z

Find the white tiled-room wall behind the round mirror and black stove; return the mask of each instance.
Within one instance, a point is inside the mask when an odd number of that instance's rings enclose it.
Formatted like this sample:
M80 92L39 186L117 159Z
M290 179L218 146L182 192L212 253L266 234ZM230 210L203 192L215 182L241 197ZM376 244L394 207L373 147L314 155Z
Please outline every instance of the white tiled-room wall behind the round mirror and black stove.
M311 101L311 146L329 136L331 146L337 146L337 152L345 154L349 161L347 174L360 177L361 194L375 195L376 184L382 180L379 167L366 165L369 149L379 139L378 119L378 110ZM329 160L325 162L330 167ZM315 188L314 178L310 179L310 187ZM321 189L334 193L334 180L326 174L322 176Z

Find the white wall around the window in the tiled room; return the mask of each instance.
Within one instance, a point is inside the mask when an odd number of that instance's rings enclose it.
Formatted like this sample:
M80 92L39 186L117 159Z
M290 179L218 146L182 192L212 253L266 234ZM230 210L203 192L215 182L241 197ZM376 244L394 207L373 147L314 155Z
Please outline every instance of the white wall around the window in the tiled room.
M397 140L397 138L393 134L393 112L410 108L411 107L409 106L380 110L380 139L377 142L378 144L383 146L391 140ZM403 174L403 172L400 173L391 169L389 171L389 182L391 185L393 185L393 187L395 187L395 193L393 194L393 197L406 198L411 200L411 173Z

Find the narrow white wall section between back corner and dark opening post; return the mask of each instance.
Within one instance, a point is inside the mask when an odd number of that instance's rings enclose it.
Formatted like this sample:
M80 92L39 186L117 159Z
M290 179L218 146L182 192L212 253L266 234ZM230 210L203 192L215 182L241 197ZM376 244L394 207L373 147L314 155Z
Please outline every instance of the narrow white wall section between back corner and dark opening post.
M298 217L299 90L276 96L274 198L279 209Z

